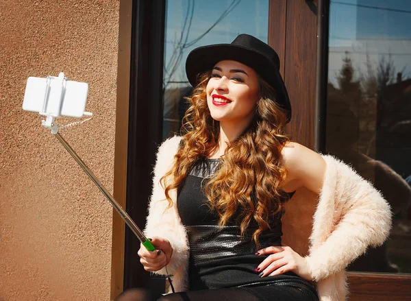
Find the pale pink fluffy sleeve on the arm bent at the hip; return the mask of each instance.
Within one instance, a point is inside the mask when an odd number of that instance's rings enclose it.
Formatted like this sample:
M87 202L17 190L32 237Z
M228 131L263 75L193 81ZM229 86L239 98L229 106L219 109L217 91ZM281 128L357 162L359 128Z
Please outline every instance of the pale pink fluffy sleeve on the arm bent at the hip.
M327 169L306 261L314 280L332 282L369 245L384 243L391 228L391 210L379 191L351 167L333 156L323 158ZM317 289L321 295L320 282Z

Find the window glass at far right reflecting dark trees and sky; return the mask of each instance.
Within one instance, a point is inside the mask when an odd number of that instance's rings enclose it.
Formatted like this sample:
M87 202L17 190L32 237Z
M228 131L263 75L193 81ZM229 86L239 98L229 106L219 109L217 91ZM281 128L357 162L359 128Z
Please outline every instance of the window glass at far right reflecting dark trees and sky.
M411 1L330 1L327 152L394 213L387 243L349 269L411 273Z

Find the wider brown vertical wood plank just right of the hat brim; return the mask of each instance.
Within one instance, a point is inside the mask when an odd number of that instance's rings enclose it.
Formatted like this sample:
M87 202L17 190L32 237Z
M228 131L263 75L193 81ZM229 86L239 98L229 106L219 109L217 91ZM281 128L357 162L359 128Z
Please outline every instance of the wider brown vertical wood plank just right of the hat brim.
M316 84L316 14L306 1L287 1L284 82L292 106L287 132L314 147Z

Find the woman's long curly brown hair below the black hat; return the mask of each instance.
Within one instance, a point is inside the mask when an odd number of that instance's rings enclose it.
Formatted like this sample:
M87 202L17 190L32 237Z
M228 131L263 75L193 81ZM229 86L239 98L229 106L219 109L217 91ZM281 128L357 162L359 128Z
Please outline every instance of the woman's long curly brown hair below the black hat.
M219 121L212 119L208 110L206 86L210 72L199 77L183 119L182 143L175 155L175 165L160 180L169 207L169 195L178 189L190 168L210 156L219 146ZM260 99L253 121L235 141L227 146L221 157L220 168L205 186L212 210L219 215L219 225L224 226L235 213L240 212L241 235L251 224L258 224L253 240L259 246L258 235L269 228L269 218L282 211L282 191L279 186L286 177L280 165L282 148L290 141L284 134L286 112L275 101L275 90L259 78ZM171 181L167 180L171 176ZM240 210L239 210L240 209Z

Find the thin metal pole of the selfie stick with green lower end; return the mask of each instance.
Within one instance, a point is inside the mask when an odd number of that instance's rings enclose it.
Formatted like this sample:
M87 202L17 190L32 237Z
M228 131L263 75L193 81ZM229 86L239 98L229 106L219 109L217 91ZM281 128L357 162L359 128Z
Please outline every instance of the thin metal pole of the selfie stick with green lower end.
M105 197L110 202L110 204L112 204L114 209L116 209L116 211L119 213L119 215L121 216L123 221L125 221L125 224L127 224L127 226L129 226L129 228L132 229L134 234L136 234L136 237L141 241L142 245L144 245L147 250L154 251L155 248L154 248L153 244L151 243L151 241L149 241L149 239L147 239L147 237L145 237L145 235L141 232L140 228L138 228L136 223L134 223L132 218L129 217L129 215L125 212L125 210L123 208L121 208L119 203L117 203L116 200L114 200L114 197L110 194L110 192L107 191L107 189L105 189L105 187L96 178L94 173L92 173L92 171L90 171L90 169L88 169L87 165L84 164L83 160L79 156L77 156L74 149L71 148L69 143L67 143L63 139L63 137L60 136L60 134L58 132L55 132L55 133L53 132L53 134L62 143L64 148L67 149L67 152L69 152L71 154L71 156L73 156L73 158L77 161L77 163L79 163L79 165L82 167L82 169L84 169L84 171L86 171L87 175L90 177L92 182L95 182L97 187L99 187L100 191L105 195Z

